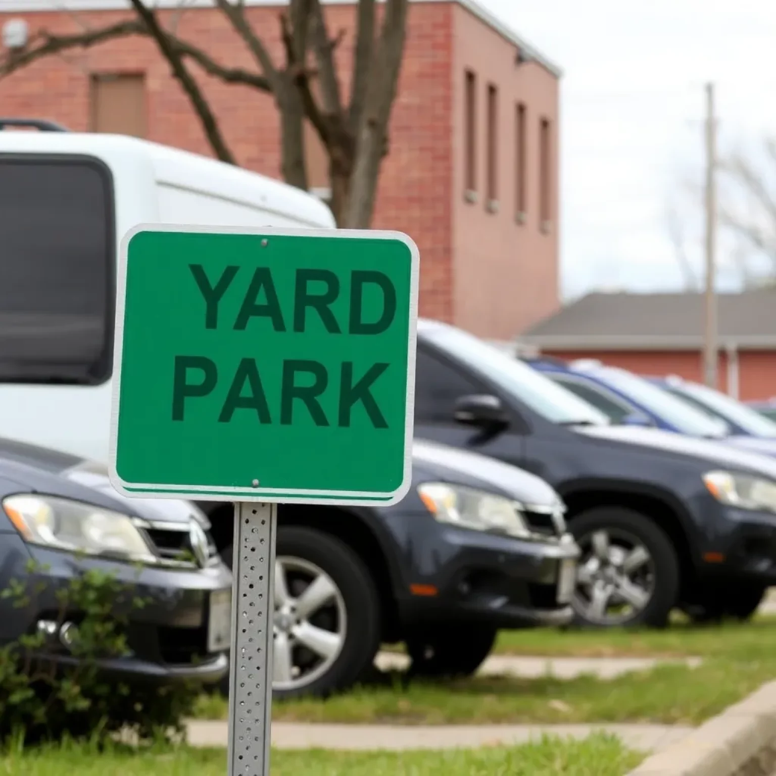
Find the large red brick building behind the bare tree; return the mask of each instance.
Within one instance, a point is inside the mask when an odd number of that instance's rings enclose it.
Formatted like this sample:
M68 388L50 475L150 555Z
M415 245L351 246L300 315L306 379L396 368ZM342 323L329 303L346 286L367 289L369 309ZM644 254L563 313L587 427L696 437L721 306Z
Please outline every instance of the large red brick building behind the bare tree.
M0 0L0 25L79 32L126 15L126 0ZM163 14L180 0L157 0ZM253 68L227 19L189 0L177 33L225 64ZM280 61L282 0L247 0L248 16ZM63 11L67 7L68 11ZM355 6L325 7L342 80ZM241 165L279 177L272 98L192 70ZM559 70L474 0L415 0L383 164L376 228L407 232L421 249L421 314L489 338L511 338L558 304ZM347 83L344 84L347 87ZM345 92L347 93L347 92ZM209 153L188 99L154 44L141 37L38 61L0 81L6 116L49 118L73 130L120 132ZM308 133L310 184L326 167Z

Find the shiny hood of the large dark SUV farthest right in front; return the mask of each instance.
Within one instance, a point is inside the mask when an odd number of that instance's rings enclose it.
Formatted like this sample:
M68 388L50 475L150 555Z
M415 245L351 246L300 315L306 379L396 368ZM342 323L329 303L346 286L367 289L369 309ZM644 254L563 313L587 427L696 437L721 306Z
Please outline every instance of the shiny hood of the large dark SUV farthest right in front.
M707 461L714 466L726 466L737 471L747 470L776 480L776 460L760 452L730 445L729 442L712 442L708 439L674 434L672 431L638 426L577 426L574 431L588 437L622 442L625 445L639 445Z

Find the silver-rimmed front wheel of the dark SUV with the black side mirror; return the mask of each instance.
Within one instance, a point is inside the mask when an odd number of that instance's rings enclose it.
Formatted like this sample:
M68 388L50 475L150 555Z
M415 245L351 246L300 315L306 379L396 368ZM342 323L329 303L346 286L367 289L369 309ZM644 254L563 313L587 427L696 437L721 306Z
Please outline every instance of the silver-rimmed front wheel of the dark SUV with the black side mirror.
M582 550L572 601L575 625L667 624L679 593L679 561L660 526L632 509L601 507L572 518L569 529ZM622 601L625 611L609 615L606 609L598 616L607 594L610 602Z

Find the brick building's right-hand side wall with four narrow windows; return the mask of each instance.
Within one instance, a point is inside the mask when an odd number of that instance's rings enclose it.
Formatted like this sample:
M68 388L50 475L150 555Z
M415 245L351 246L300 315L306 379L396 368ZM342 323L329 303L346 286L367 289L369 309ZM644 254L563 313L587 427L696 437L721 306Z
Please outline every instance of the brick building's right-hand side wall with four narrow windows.
M515 64L517 49L471 12L455 6L452 212L455 318L483 337L512 339L558 305L559 84L539 64ZM476 202L465 199L465 72L476 75ZM487 87L498 94L497 212L487 210ZM525 223L517 223L518 102L525 105ZM549 120L550 225L539 222L539 123Z

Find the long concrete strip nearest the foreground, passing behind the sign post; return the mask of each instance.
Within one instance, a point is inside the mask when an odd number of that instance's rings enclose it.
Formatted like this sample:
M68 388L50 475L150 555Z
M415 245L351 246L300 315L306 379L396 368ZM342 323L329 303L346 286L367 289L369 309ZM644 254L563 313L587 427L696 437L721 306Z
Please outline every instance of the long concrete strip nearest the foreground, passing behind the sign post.
M279 749L417 750L514 746L543 735L587 738L606 731L626 747L644 752L663 750L692 728L670 725L324 725L274 722L272 746ZM226 747L227 723L192 720L193 747Z

